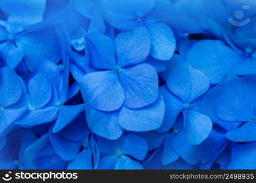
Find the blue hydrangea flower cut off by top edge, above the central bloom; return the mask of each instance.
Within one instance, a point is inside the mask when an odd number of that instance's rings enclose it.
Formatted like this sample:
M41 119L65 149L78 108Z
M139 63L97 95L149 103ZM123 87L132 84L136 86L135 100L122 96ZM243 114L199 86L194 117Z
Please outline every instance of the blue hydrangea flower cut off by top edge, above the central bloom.
M175 38L170 27L150 16L155 0L108 0L101 1L101 4L104 18L109 24L120 30L145 27L151 43L151 56L159 60L170 60L175 51Z

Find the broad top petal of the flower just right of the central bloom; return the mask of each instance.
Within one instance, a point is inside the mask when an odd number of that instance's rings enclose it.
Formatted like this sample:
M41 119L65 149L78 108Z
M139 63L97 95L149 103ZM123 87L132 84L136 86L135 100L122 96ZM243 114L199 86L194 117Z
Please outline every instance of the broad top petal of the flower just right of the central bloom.
M201 71L188 63L181 63L174 66L168 74L167 87L183 102L190 104L208 90L210 82Z

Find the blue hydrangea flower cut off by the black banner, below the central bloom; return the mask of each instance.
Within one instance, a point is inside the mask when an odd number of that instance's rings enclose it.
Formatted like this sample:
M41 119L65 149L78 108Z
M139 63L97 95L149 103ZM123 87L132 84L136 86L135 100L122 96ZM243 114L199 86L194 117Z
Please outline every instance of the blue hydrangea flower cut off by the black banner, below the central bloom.
M141 163L147 154L147 142L136 135L123 135L118 140L98 138L99 169L143 169Z

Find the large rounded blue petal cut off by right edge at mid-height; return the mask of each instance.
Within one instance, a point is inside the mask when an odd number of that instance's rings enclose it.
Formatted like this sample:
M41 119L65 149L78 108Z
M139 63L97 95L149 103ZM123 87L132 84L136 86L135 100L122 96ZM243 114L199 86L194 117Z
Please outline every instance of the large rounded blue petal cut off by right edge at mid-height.
M216 115L224 121L246 122L256 109L256 82L237 78L224 85L214 99Z

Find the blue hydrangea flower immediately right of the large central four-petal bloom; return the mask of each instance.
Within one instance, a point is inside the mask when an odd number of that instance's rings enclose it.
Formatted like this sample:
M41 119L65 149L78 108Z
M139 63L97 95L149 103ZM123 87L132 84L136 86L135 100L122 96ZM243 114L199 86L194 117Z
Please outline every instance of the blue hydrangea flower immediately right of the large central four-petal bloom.
M210 87L207 76L192 68L188 63L180 63L167 75L167 86L161 87L166 103L164 123L158 131L168 131L178 115L184 117L184 131L189 142L200 144L211 132L211 119L197 111L202 96Z

